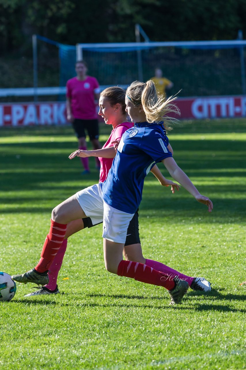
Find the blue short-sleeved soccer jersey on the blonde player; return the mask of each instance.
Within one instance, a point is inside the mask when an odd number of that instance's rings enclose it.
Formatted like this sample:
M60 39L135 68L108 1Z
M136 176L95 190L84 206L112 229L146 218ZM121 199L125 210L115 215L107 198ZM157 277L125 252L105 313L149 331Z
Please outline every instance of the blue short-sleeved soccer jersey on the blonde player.
M101 184L103 200L120 211L135 213L145 176L156 163L172 157L168 144L162 124L141 122L125 131L108 177Z

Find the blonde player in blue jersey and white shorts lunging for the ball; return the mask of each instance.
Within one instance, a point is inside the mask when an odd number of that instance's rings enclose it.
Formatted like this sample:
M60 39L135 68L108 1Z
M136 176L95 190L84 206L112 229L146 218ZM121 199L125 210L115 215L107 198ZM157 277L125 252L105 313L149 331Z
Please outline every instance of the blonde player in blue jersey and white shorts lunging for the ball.
M157 162L163 162L170 175L198 202L207 205L209 212L213 208L210 199L198 192L167 148L169 125L163 120L168 120L166 114L174 111L172 100L158 97L153 81L135 81L128 87L126 111L135 126L123 134L107 179L79 191L53 209L51 229L38 265L25 274L14 275L13 279L43 284L64 239L67 223L90 217L93 224L103 221L104 261L109 272L163 286L170 294L171 304L181 303L189 286L186 281L122 259L127 228L142 199L144 178Z

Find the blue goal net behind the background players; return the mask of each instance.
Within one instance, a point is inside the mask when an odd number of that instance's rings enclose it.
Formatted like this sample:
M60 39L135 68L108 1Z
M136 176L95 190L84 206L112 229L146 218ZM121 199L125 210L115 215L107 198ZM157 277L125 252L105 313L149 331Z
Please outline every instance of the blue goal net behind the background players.
M134 80L147 81L154 76L155 68L160 68L163 77L174 84L171 94L179 90L183 97L246 94L245 40L76 46L52 43L59 50L60 87L75 76L76 60L85 60L88 74L102 87L127 87Z

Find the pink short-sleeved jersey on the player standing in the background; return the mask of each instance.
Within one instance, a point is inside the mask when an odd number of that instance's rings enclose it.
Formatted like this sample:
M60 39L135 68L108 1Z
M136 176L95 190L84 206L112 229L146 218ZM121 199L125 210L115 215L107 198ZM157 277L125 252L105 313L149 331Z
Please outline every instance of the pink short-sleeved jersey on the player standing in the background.
M73 117L79 120L97 119L94 94L99 92L99 84L95 77L87 76L83 81L77 77L68 80L66 97L71 99Z

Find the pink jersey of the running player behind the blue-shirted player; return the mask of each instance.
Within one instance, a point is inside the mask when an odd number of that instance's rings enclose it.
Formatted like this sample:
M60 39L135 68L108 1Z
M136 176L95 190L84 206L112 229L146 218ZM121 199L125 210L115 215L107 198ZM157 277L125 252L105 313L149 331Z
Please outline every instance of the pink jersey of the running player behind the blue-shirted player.
M125 131L128 130L128 128L131 128L133 127L134 124L132 122L124 122L124 123L121 123L120 125L118 125L117 127L115 127L111 134L110 134L110 137L108 138L107 142L105 142L105 144L103 145L103 148L110 148L110 147L113 147L114 144L111 144L112 141L115 141L115 140L120 140L122 135L124 134ZM112 162L113 162L113 159L114 158L101 158L101 157L98 157L99 161L100 161L100 164L101 164L101 168L100 168L100 178L99 178L99 182L104 182L108 176L108 171L110 170L111 166L112 166Z

